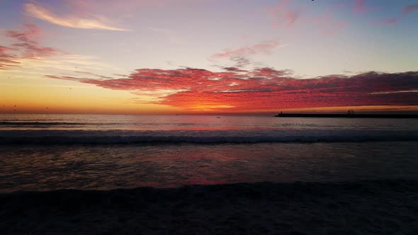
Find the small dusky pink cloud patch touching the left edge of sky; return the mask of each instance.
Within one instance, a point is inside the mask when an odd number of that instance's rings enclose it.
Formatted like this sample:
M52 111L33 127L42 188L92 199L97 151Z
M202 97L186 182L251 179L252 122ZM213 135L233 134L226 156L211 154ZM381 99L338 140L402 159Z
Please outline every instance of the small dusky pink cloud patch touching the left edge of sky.
M38 44L38 37L41 33L42 30L36 25L23 25L23 30L6 31L6 36L17 42L10 47L0 46L0 69L20 67L19 59L50 57L60 53L60 50ZM10 54L11 52L14 54Z

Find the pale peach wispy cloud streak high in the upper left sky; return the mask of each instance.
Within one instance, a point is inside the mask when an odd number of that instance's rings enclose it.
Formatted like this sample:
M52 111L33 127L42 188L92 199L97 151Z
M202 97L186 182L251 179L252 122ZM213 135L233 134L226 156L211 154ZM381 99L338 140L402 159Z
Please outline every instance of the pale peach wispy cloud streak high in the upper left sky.
M98 29L98 30L118 30L124 31L125 28L118 28L111 23L108 23L108 19L103 16L91 16L90 18L81 18L75 15L69 16L57 16L47 8L35 3L23 4L24 10L29 16L40 18L43 21L54 23L69 28L85 28L85 29Z

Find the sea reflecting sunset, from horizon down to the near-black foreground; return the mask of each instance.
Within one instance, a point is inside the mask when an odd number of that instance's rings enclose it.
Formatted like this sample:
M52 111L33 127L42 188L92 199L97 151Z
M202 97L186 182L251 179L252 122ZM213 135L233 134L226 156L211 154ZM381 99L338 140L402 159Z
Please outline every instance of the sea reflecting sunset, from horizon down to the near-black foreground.
M0 115L0 193L418 179L418 119Z

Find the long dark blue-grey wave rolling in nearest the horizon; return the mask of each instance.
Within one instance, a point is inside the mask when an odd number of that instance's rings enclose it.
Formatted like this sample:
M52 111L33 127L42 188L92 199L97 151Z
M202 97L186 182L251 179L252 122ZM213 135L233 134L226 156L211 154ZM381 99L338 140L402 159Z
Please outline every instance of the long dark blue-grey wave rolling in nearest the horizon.
M266 142L418 141L416 131L382 130L9 130L0 144L239 144Z

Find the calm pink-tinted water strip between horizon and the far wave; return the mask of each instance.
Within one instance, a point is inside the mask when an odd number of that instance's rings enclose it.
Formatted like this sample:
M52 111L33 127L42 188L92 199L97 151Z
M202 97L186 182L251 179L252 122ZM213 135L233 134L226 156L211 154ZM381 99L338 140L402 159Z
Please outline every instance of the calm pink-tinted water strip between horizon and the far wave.
M417 119L208 115L0 115L0 130L418 130Z

